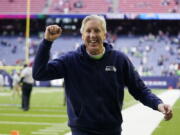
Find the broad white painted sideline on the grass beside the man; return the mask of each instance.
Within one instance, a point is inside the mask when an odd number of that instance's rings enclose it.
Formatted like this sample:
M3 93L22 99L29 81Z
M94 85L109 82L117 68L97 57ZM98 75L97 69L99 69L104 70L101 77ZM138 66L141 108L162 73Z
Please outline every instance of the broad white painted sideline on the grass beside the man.
M167 90L160 95L164 103L171 106L180 98L180 90ZM163 119L163 114L138 103L122 111L122 135L151 135ZM71 135L71 132L65 135Z

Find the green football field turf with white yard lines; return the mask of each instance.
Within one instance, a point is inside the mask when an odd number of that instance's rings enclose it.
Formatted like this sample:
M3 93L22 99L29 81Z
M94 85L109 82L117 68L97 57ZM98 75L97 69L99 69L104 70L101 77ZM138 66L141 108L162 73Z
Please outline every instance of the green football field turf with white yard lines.
M153 90L159 94L163 90ZM24 112L20 109L21 100L11 96L11 90L0 90L0 135L10 135L16 130L20 135L64 135L69 132L67 126L64 93L61 88L34 88L31 96L31 108ZM124 107L138 103L126 91ZM160 123L153 135L179 135L180 101L174 110L174 118L170 122Z

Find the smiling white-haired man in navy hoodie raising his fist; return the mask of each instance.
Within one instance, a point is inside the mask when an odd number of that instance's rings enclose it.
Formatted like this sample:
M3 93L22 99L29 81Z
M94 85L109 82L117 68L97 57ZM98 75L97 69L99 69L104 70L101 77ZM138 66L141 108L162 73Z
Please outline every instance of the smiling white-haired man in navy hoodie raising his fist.
M48 26L33 67L36 80L64 78L72 135L120 135L125 86L135 99L171 119L171 107L150 92L127 56L104 42L103 17L87 16L80 32L82 46L49 61L51 45L62 29Z

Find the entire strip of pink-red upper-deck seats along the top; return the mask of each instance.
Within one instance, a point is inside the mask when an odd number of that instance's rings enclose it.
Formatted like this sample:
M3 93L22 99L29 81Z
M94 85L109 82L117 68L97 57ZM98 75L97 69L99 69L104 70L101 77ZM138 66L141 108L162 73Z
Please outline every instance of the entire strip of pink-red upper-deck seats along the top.
M1 0L1 14L26 12L26 0ZM31 13L179 13L179 0L31 0Z

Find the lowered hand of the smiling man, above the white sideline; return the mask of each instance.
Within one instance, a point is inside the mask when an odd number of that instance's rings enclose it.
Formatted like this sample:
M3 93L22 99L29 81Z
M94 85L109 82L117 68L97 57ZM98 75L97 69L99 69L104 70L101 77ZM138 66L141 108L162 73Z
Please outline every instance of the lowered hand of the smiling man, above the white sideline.
M164 114L165 120L170 120L173 117L172 108L167 104L159 104L158 110Z

